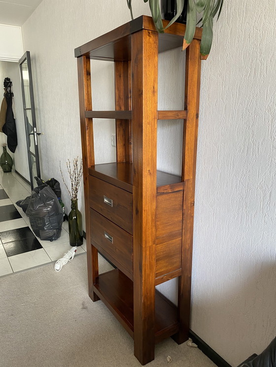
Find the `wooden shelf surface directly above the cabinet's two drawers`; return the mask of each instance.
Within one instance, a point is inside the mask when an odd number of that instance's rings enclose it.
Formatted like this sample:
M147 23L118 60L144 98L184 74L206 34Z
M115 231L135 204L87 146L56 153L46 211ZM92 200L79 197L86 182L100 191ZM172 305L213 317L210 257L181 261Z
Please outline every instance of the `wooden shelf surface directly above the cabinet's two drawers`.
M111 183L126 191L133 192L132 163L114 162L95 164L88 171L90 175L98 179ZM157 192L170 192L176 191L177 189L183 189L180 176L157 171Z

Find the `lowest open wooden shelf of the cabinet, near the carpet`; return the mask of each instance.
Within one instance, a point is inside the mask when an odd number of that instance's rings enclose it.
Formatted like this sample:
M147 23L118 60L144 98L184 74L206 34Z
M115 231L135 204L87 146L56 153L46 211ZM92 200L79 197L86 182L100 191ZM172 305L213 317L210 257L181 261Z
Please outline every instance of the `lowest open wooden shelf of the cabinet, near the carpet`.
M99 275L94 292L134 337L133 281L118 269ZM155 342L179 330L177 308L158 291L155 293Z

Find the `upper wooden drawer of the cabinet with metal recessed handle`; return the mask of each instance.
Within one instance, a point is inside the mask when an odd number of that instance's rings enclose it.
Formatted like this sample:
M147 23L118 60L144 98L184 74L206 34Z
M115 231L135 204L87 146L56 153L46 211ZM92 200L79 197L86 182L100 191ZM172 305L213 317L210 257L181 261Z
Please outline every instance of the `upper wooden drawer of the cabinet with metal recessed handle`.
M132 194L89 176L90 207L132 234Z

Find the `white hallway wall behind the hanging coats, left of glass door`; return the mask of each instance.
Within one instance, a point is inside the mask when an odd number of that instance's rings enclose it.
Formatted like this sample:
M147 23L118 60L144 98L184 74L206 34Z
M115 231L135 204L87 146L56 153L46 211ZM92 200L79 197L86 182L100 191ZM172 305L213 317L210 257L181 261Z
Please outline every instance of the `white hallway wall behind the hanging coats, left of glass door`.
M16 171L30 181L19 63L0 61L0 68L4 71L3 77L0 75L1 86L5 77L9 77L12 81L12 92L14 94L14 103L16 107L15 124L18 145L14 154L10 151L8 152L13 158L13 169L15 168ZM2 96L2 93L0 96ZM6 142L6 135L0 133L0 139L1 142Z

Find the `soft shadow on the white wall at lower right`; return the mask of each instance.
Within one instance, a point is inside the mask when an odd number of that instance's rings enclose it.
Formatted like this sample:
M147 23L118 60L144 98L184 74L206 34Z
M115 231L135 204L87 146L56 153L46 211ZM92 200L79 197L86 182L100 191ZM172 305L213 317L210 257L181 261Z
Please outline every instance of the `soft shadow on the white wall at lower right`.
M219 288L220 279L210 281ZM244 267L241 274L229 269L229 283L236 285L193 302L191 319L192 330L235 367L253 353L260 354L276 336L276 263ZM193 313L201 315L199 322L193 322Z

